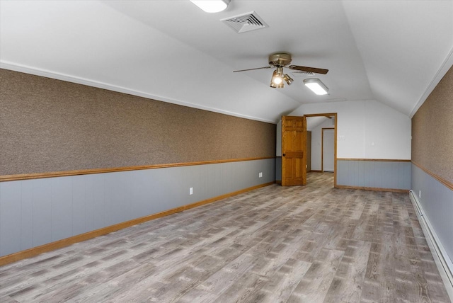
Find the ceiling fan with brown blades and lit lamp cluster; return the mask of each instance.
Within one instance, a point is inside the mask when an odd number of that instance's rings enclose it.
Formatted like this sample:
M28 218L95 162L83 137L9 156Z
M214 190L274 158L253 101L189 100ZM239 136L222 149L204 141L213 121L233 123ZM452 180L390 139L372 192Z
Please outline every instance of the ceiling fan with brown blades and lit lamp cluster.
M255 69L270 69L275 67L275 71L273 72L272 79L270 81L270 87L272 88L283 88L285 86L284 81L288 85L292 84L294 81L288 74L284 74L283 68L286 67L288 69L293 69L300 72L306 73L314 73L314 74L327 74L328 69L319 69L316 67L301 67L299 65L289 65L291 63L291 54L287 52L276 52L269 56L269 66L268 67L257 67ZM253 71L255 69L240 69L238 71L233 72L246 72L246 71Z

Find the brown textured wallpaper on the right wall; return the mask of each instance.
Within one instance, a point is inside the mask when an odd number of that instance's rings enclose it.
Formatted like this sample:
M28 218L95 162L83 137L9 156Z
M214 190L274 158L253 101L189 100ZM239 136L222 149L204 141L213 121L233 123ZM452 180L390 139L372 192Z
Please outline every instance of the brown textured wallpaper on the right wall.
M412 118L412 161L453 183L453 67Z

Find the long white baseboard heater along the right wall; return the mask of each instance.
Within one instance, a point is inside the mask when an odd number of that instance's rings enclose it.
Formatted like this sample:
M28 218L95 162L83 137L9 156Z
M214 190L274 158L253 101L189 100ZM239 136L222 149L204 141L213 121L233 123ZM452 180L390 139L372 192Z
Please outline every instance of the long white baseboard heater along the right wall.
M428 246L430 246L432 256L434 257L437 268L439 269L440 275L442 276L442 280L444 281L445 287L447 287L448 295L453 301L452 261L447 255L444 246L442 246L442 242L440 242L439 238L437 237L435 230L432 228L430 220L425 217L425 212L423 212L423 207L420 204L420 200L418 200L418 197L413 190L409 191L409 198L411 199L413 207L416 210L418 221L420 222L420 225L423 229L423 234L425 234Z

